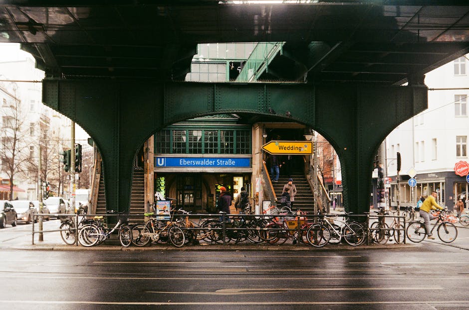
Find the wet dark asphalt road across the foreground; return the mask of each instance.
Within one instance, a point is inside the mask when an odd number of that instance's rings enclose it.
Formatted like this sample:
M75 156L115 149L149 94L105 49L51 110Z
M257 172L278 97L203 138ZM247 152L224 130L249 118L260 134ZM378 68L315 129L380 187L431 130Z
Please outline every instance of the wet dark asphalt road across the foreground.
M469 310L462 246L129 249L2 248L0 309Z

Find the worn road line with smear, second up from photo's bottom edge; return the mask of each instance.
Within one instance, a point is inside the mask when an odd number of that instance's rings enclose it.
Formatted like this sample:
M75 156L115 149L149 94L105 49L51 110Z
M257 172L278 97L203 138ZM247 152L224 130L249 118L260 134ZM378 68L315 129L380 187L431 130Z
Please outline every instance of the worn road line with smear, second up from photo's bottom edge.
M426 291L426 290L444 290L441 286L430 287L362 287L362 288L282 288L282 289L222 289L215 292L164 292L164 291L146 291L153 294L178 294L178 295L245 295L245 294L276 294L288 293L292 291Z

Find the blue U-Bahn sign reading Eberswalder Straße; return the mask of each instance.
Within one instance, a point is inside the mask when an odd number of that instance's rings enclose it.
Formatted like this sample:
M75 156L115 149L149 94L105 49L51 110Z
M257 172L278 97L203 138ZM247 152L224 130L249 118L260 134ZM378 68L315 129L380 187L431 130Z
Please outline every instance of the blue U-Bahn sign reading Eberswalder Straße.
M155 157L155 167L249 168L249 157Z

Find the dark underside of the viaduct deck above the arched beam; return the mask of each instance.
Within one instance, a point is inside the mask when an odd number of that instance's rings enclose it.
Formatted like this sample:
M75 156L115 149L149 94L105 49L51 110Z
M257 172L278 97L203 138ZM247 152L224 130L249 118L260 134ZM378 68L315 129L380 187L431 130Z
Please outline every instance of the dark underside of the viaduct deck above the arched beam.
M469 52L465 1L233 2L6 0L0 42L47 77L156 81L184 80L198 43L285 42L260 80L301 83L421 83Z

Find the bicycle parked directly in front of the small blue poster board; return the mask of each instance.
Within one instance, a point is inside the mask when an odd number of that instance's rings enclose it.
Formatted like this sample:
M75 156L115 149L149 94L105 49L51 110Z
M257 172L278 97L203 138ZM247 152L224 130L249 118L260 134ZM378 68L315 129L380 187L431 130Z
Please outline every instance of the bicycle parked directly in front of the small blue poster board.
M149 217L148 221L144 225L138 224L132 227L132 243L136 246L146 246L151 241L169 240L175 247L182 247L186 243L186 236L173 220L174 212L169 221L166 219L159 220L154 214L154 212L145 213L144 215Z

